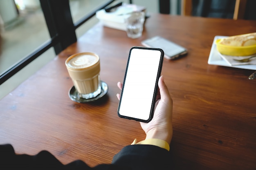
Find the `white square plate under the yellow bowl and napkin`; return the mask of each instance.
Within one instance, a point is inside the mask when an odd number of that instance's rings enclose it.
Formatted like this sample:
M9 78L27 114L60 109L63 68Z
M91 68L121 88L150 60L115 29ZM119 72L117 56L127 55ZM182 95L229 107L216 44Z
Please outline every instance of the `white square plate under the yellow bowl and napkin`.
M209 59L208 59L208 64L211 65L217 65L217 66L227 66L227 67L234 67L234 68L243 68L243 69L248 69L248 70L256 70L256 65L239 65L239 66L230 66L229 63L227 63L225 60L222 59L222 57L220 57L217 48L216 48L216 44L214 43L216 39L220 39L220 38L224 38L226 36L215 36L214 40L213 40L213 44L211 46L211 52L209 55Z

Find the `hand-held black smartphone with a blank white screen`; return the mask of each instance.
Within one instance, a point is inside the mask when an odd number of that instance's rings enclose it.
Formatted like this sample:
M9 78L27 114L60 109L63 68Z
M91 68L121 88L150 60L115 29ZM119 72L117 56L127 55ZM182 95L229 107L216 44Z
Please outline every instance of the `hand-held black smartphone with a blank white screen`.
M163 60L162 49L130 49L117 110L119 117L142 122L153 118Z

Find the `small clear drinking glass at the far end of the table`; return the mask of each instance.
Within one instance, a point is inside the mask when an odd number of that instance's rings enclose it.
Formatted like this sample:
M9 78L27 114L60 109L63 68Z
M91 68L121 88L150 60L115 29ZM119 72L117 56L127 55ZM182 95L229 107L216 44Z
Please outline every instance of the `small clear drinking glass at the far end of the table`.
M145 21L145 13L132 12L128 18L126 18L126 32L129 38L139 38L142 35L143 26Z

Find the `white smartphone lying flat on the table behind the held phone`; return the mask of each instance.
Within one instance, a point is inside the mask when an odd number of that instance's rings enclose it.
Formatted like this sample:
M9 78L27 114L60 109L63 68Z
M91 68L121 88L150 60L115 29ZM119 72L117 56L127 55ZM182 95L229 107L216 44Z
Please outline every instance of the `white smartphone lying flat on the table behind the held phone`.
M160 36L155 36L153 38L144 40L141 42L141 44L151 48L163 49L164 57L168 60L173 60L187 54L187 50L184 47Z

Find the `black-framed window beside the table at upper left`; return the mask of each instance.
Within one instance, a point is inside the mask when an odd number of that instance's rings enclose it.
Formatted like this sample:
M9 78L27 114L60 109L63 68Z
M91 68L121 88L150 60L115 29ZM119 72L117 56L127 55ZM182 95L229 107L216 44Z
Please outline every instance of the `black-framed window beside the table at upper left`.
M0 85L4 83L8 88L11 85L12 89L9 91L13 90L13 84L18 86L23 81L20 75L25 75L25 80L34 73L31 65L39 69L76 42L76 29L80 29L85 22L90 23L87 21L93 18L97 10L114 1L0 0L0 30L3 29L4 39L0 56ZM93 24L92 22L91 25ZM87 29L81 27L80 34ZM26 73L21 73L21 69L27 70ZM13 81L5 82L10 77ZM0 90L0 98L4 96L2 93L3 90Z

